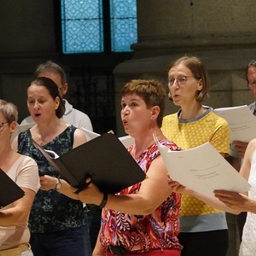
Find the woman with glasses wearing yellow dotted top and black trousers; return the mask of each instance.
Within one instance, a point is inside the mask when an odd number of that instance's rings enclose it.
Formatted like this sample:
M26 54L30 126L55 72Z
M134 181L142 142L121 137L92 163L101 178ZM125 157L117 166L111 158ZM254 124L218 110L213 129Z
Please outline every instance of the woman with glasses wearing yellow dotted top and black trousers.
M195 56L172 62L168 72L169 98L177 113L163 119L161 130L183 150L210 142L224 157L230 154L227 122L201 104L209 90L206 68ZM225 212L184 194L180 216L182 256L225 256L229 246Z

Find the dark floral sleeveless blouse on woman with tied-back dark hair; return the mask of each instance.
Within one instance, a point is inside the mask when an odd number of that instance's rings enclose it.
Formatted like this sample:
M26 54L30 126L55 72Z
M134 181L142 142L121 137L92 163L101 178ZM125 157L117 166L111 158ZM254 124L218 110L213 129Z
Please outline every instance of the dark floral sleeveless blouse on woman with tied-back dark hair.
M70 125L50 143L44 145L44 149L55 151L61 155L73 148L73 133L75 127ZM35 148L31 140L29 130L20 132L18 137L18 151L32 157L38 163L38 169L42 174L52 177L60 177L58 172L49 164L44 155ZM33 201L29 218L31 233L48 233L61 230L69 230L84 225L83 203L73 200L66 195L50 189L39 189Z

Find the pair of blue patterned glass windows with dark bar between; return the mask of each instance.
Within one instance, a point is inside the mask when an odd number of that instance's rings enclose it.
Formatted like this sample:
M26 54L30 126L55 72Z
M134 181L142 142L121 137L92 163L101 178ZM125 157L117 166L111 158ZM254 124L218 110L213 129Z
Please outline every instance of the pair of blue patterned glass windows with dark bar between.
M136 0L61 0L61 34L64 54L131 51Z

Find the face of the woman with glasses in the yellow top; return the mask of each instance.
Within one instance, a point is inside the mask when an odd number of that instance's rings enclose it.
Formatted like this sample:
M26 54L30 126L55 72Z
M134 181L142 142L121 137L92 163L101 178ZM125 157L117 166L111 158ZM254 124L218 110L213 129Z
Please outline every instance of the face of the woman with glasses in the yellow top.
M176 106L190 106L195 102L195 97L199 90L202 90L201 80L195 79L193 73L183 64L172 67L168 73L168 80L186 78L185 84L178 83L175 80L174 84L168 83L168 88L172 96L172 101Z

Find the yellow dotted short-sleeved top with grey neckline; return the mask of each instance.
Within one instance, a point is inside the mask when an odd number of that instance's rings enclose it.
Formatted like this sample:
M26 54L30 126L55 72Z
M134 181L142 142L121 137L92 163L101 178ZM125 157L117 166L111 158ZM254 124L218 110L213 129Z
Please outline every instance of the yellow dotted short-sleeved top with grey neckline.
M225 119L208 108L200 117L192 120L179 119L179 113L167 115L161 130L171 142L183 150L210 142L219 153L230 154L230 131ZM203 215L221 212L207 206L191 195L183 195L181 216Z

